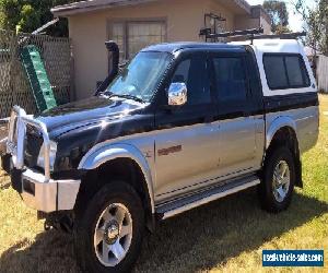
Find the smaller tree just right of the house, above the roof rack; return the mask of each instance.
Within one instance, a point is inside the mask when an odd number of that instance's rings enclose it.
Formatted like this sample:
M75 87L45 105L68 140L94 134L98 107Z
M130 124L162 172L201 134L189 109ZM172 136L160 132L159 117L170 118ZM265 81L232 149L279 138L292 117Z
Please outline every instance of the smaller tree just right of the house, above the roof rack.
M267 11L271 19L272 33L288 33L289 29L289 12L286 4L283 1L266 0L263 9Z

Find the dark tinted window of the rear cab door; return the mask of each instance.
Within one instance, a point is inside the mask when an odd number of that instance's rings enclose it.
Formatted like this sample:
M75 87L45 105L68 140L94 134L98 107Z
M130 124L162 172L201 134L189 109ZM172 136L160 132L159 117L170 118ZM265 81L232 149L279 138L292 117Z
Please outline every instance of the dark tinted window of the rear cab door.
M246 100L246 75L244 58L213 58L215 94L221 102Z

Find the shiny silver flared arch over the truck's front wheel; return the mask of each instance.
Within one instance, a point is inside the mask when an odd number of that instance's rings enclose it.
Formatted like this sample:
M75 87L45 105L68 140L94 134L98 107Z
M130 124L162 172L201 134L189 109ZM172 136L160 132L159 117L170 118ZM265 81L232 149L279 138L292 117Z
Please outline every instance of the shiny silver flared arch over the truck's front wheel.
M155 212L153 181L151 176L151 168L144 158L141 151L130 144L101 144L93 147L80 162L79 169L95 169L101 165L116 159L130 158L134 161L143 173L147 188L151 201L151 211Z

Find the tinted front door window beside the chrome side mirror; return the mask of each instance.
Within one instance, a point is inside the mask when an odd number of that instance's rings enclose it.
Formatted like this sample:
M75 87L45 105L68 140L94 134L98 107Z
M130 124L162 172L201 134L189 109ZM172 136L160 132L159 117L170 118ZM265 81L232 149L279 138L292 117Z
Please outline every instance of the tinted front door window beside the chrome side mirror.
M211 103L210 80L207 61L202 56L181 61L172 78L173 83L183 82L187 85L187 105Z

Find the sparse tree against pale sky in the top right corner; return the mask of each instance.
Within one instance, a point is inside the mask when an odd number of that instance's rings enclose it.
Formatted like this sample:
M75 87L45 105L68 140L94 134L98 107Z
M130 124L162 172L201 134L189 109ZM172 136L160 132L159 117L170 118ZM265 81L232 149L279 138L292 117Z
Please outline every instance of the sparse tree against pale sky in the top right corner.
M314 1L313 7L308 7L305 0L296 0L293 4L305 22L305 43L315 51L328 56L328 0Z

